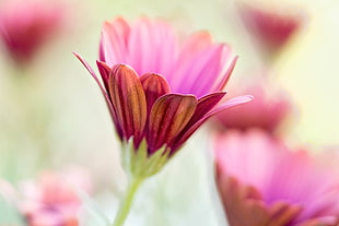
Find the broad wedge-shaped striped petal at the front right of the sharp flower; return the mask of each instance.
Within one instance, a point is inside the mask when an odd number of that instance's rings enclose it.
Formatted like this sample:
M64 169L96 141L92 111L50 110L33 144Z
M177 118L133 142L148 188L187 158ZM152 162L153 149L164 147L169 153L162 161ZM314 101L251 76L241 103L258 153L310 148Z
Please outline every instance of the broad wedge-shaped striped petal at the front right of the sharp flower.
M172 143L189 122L197 104L195 96L179 94L164 95L154 103L147 135L151 154Z

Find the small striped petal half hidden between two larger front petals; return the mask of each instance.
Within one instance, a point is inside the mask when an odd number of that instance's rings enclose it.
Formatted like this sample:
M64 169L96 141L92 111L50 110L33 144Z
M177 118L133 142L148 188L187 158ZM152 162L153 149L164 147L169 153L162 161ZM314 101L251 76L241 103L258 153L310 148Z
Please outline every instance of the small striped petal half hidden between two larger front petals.
M155 100L159 97L170 93L170 86L162 75L154 73L147 73L142 75L140 78L140 82L144 90L149 115Z

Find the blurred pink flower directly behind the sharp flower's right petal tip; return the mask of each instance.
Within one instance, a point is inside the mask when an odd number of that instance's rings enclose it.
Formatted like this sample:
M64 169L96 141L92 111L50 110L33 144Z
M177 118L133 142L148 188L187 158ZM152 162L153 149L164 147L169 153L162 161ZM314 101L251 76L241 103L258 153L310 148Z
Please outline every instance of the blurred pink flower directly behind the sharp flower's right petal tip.
M247 87L244 92L252 94L254 99L236 106L214 117L215 124L223 129L248 130L262 129L273 133L292 109L285 93L265 90L265 83Z

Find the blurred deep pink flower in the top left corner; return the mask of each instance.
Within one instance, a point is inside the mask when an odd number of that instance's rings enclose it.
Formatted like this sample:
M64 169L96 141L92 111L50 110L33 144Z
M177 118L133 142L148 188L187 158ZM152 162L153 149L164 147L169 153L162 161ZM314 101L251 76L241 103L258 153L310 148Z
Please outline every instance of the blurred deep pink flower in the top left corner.
M39 48L60 28L65 16L60 3L8 2L0 10L0 39L19 64L30 62Z

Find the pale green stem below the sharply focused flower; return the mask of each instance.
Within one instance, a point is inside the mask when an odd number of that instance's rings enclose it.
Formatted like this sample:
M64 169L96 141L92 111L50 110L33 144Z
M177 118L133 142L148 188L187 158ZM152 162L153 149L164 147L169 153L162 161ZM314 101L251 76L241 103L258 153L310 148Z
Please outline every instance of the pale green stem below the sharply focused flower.
M125 198L122 199L122 201L120 203L120 206L119 206L118 213L115 217L115 221L113 223L113 226L124 225L124 223L128 216L128 213L130 211L130 207L132 205L135 194L136 194L136 192L137 192L137 190L140 187L142 181L143 181L142 178L132 178L131 179L130 185L127 188Z

